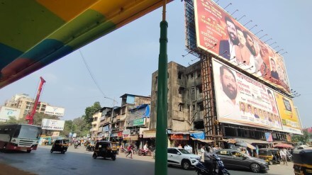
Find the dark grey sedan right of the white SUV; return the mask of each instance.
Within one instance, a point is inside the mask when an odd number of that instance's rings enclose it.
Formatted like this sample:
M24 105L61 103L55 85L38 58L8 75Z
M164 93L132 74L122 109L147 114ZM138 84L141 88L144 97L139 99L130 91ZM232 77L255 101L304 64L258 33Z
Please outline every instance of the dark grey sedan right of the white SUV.
M255 173L269 170L269 164L264 160L250 157L237 150L219 149L216 152L213 152L213 154L218 154L226 169L250 169Z

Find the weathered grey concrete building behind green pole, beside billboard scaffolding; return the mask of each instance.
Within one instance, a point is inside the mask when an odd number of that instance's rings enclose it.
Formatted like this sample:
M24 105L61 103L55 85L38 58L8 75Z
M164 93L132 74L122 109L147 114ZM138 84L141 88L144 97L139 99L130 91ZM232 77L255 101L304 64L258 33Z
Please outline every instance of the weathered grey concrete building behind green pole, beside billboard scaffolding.
M158 72L152 74L150 130L156 129L157 76ZM201 86L200 62L190 67L175 62L168 63L168 132L184 137L179 140L170 139L169 146L186 145L190 132L204 131Z

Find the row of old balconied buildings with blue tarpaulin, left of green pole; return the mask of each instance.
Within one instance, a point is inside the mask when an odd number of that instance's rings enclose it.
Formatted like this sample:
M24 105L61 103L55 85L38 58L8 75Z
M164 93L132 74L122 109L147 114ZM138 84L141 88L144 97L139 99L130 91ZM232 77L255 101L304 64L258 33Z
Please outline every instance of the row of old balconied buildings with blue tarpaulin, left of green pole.
M136 142L139 147L143 145L140 135L149 125L150 96L123 94L121 98L121 107L115 106L113 110L107 108L106 113L102 113L101 136L106 139L109 136L110 140L119 141L121 144L128 141Z

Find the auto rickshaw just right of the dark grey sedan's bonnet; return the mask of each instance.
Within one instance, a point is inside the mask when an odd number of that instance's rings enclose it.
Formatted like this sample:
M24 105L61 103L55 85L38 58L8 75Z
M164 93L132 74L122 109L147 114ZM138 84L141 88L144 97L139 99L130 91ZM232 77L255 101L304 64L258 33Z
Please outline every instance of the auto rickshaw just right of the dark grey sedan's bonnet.
M279 156L279 149L261 148L258 154L259 159L264 159L269 164L280 164L281 157Z

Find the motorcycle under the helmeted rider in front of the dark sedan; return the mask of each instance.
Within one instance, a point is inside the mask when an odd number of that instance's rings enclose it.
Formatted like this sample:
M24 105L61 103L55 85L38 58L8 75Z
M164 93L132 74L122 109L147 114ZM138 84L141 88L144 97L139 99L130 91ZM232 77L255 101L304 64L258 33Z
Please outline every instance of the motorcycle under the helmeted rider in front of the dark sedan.
M225 169L225 166L222 162L222 160L220 159L220 157L218 157L218 155L213 154L213 157L215 158L214 161L216 161L216 164L218 166L218 175L230 175L230 173L228 172L227 169ZM198 164L196 164L194 166L195 171L197 172L197 175L208 175L209 170L207 169L207 167L204 165L204 162L199 162Z

